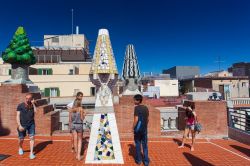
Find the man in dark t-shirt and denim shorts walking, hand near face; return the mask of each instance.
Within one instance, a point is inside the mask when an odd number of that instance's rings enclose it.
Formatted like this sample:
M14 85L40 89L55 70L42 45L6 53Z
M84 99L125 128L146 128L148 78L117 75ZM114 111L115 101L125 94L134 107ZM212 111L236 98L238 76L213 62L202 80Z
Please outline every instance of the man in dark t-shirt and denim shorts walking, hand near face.
M32 94L28 93L25 96L25 101L17 106L17 132L19 137L19 155L23 155L23 141L28 132L30 137L30 159L34 159L33 154L34 147L34 135L35 135L35 120L34 113L36 112L35 100Z

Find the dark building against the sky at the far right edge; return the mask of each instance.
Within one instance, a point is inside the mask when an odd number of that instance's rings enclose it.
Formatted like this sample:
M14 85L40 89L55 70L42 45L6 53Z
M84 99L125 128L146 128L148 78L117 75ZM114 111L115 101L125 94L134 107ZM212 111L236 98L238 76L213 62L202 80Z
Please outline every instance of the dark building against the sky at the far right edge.
M234 63L228 71L233 73L233 76L248 76L250 77L250 63L239 62Z

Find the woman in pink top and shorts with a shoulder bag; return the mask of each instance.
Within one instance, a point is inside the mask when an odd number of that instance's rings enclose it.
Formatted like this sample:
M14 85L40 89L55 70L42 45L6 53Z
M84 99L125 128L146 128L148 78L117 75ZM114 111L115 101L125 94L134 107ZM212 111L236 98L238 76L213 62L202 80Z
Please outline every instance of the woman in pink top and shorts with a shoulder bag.
M192 135L191 151L194 151L194 142L195 142L195 134L196 134L195 126L197 123L197 115L194 111L193 106L186 108L186 118L185 119L186 119L186 127L185 127L184 134L183 134L182 144L178 148L184 147L185 141L187 139L187 135L191 131L191 135Z

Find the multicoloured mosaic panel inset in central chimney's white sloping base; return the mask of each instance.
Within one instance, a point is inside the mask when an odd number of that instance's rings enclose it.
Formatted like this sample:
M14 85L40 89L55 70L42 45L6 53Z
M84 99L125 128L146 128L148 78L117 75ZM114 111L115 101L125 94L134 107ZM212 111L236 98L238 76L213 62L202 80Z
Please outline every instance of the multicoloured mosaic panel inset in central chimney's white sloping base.
M101 114L94 160L115 159L108 114Z

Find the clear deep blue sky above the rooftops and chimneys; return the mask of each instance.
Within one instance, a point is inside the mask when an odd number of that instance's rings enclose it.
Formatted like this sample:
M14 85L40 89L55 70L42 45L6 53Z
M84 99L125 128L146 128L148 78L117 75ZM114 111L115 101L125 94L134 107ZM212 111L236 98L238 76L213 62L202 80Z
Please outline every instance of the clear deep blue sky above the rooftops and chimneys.
M176 65L200 66L201 72L250 61L249 0L43 0L1 3L0 50L16 28L24 26L32 46L44 34L70 34L74 25L90 42L107 28L119 71L125 48L134 44L141 72L160 73Z

